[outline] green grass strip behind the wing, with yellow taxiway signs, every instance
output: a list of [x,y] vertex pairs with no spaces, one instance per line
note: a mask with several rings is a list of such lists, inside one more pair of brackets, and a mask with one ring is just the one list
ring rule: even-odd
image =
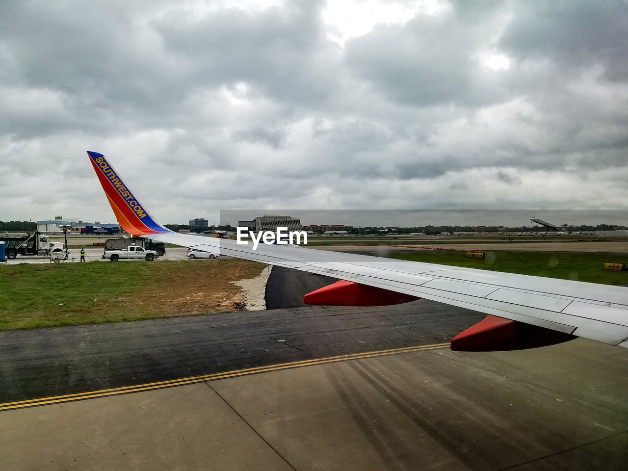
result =
[[628,283],[628,272],[607,271],[604,263],[628,263],[628,255],[570,252],[487,252],[485,259],[470,259],[465,252],[428,251],[392,254],[394,259],[521,273],[589,283]]

